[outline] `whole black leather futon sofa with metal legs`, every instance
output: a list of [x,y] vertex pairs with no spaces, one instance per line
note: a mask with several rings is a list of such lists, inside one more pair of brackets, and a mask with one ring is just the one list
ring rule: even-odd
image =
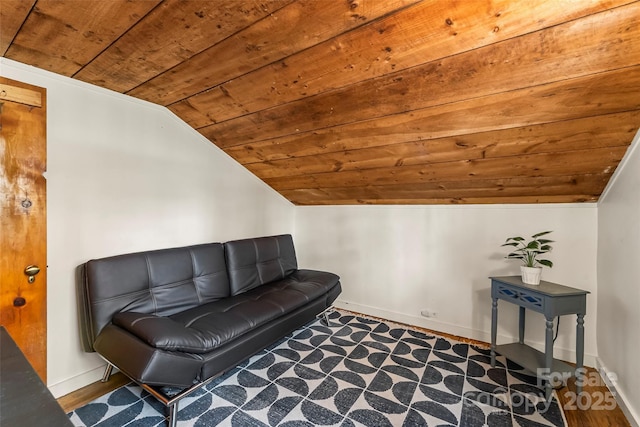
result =
[[95,259],[79,271],[84,350],[108,362],[104,381],[115,366],[162,401],[171,426],[181,398],[326,313],[341,292],[337,275],[298,269],[290,235]]

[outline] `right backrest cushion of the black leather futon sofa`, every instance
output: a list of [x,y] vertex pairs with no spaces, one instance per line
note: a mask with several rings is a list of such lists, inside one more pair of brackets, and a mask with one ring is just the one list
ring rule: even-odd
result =
[[234,240],[224,247],[231,295],[283,279],[298,269],[289,234]]

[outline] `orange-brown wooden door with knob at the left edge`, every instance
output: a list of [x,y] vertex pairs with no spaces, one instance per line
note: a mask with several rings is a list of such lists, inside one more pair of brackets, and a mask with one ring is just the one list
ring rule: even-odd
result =
[[46,117],[45,89],[0,77],[0,324],[45,383]]

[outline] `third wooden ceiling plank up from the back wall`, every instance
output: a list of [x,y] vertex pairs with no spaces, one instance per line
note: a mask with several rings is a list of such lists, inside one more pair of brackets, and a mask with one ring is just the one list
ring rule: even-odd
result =
[[[628,146],[640,127],[640,111],[589,117],[458,137],[256,161],[259,149],[232,147],[227,154],[262,178],[305,175],[525,154]],[[295,144],[291,144],[294,146]],[[250,161],[247,161],[250,160]]]

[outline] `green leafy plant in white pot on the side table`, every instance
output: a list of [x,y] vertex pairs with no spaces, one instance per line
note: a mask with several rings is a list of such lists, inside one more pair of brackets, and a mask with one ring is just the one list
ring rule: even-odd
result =
[[538,259],[542,254],[551,252],[553,249],[549,243],[553,243],[553,240],[543,239],[542,236],[546,236],[551,231],[543,231],[531,236],[531,240],[526,242],[523,237],[509,237],[502,246],[512,246],[514,249],[505,258],[519,259],[524,265],[520,267],[522,273],[522,281],[528,285],[539,285],[540,275],[542,274],[542,267],[553,267],[553,262],[548,259]]

